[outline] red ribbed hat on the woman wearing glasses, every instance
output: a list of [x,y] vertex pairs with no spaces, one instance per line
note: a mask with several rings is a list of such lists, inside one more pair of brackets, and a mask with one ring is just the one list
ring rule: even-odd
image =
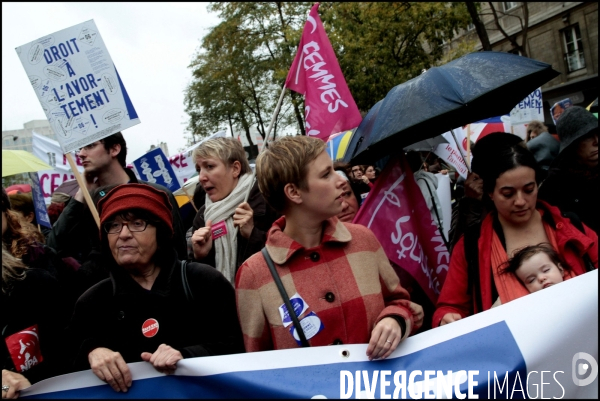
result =
[[[100,225],[114,215],[132,209],[152,213],[169,227],[173,235],[173,208],[169,197],[164,191],[146,184],[122,184],[110,190],[98,202]],[[103,231],[100,230],[101,236]]]

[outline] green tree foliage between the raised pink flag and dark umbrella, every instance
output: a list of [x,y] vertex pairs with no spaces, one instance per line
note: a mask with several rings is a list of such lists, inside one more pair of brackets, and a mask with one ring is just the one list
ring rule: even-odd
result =
[[368,111],[391,88],[443,56],[444,40],[466,27],[463,3],[323,3],[321,19],[358,108]]

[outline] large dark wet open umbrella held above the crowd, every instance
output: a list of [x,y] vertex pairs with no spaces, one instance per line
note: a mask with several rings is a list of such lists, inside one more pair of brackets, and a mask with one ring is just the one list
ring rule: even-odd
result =
[[558,75],[550,64],[501,52],[471,53],[433,67],[373,106],[344,161],[366,164],[473,121],[508,114]]

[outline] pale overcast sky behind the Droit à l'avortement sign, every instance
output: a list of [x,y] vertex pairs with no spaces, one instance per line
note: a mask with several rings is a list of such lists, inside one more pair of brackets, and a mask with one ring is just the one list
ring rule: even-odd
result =
[[[164,141],[185,147],[183,91],[188,68],[208,29],[207,3],[2,3],[2,130],[46,119],[15,48],[93,19],[141,124],[123,132],[127,162]],[[216,131],[216,127],[215,127]]]

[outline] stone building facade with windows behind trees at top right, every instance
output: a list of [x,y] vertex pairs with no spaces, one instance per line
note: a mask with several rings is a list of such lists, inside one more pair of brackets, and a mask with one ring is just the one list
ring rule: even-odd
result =
[[[480,18],[486,27],[492,50],[519,53],[497,28],[487,2],[482,2]],[[503,30],[523,41],[524,3],[493,2]],[[545,122],[552,123],[550,107],[570,98],[573,104],[587,107],[598,97],[598,3],[597,2],[528,2],[529,23],[524,44],[529,58],[552,65],[561,74],[542,86]],[[481,42],[473,25],[460,32],[446,50],[473,41],[475,50]]]

